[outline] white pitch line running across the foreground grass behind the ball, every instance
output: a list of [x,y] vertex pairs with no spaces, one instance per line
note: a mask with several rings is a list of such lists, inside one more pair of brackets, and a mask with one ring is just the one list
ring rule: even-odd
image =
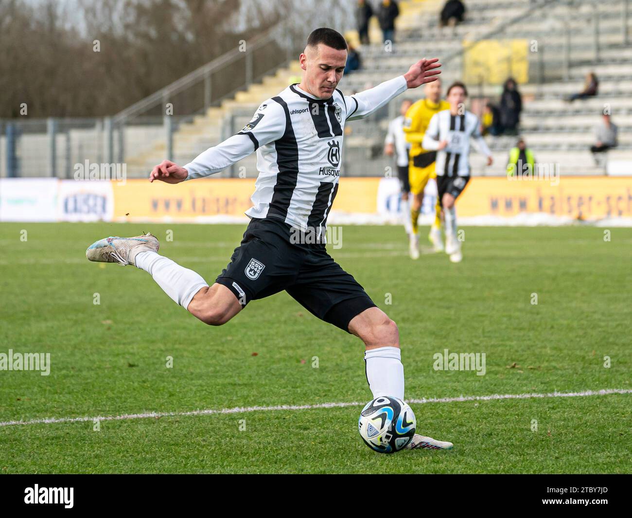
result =
[[[546,397],[586,397],[604,396],[607,394],[630,394],[632,389],[626,388],[605,388],[602,390],[585,390],[583,392],[551,392],[546,394],[492,394],[489,396],[460,396],[444,398],[421,398],[407,399],[408,403],[457,403],[464,401],[491,401],[501,399],[531,399]],[[219,410],[191,410],[190,412],[147,412],[144,414],[123,414],[122,416],[97,416],[97,417],[49,417],[47,419],[31,419],[30,421],[3,421],[0,426],[11,426],[14,424],[52,424],[56,422],[86,422],[86,421],[119,421],[121,419],[147,419],[148,417],[179,417],[179,416],[209,416],[210,414],[243,414],[245,412],[269,412],[270,410],[312,410],[331,409],[343,407],[360,407],[366,403],[318,403],[314,405],[276,405],[272,407],[234,407],[231,409]]]

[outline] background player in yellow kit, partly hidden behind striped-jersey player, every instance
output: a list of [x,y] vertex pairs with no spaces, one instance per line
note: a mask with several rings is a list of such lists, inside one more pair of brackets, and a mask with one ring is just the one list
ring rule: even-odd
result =
[[[410,163],[408,176],[410,179],[410,192],[413,199],[410,204],[410,217],[413,232],[410,235],[410,257],[419,258],[419,213],[422,210],[423,190],[430,178],[437,178],[435,174],[436,151],[427,151],[422,147],[423,135],[428,128],[428,123],[435,113],[449,109],[447,101],[441,100],[441,80],[427,83],[424,89],[425,99],[415,102],[406,112],[404,117],[404,133],[406,140],[410,142]],[[435,206],[435,221],[430,228],[428,236],[433,248],[437,252],[443,250],[441,238],[441,206],[437,200]]]

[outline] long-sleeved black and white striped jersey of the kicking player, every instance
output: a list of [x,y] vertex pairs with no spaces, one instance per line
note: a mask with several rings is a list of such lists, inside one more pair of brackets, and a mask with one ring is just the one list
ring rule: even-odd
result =
[[258,177],[251,218],[277,218],[289,225],[324,229],[336,197],[344,124],[362,119],[406,90],[396,77],[353,96],[336,89],[317,99],[287,87],[264,101],[243,129],[202,152],[184,167],[187,180],[219,173],[257,151]]

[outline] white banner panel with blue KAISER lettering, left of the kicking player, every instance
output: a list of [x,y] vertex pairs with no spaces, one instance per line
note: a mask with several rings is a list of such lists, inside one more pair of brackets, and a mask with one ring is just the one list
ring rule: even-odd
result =
[[59,221],[112,221],[112,182],[61,180],[58,194]]

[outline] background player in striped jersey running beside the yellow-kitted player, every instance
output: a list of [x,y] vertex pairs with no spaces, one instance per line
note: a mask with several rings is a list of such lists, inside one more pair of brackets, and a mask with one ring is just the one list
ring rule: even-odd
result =
[[453,83],[447,89],[450,109],[432,116],[422,144],[424,149],[437,150],[437,191],[444,213],[446,254],[452,262],[463,259],[461,244],[456,237],[454,202],[470,181],[470,138],[475,139],[478,151],[487,156],[487,165],[492,165],[492,152],[480,134],[478,117],[464,108],[467,96],[463,83]]

